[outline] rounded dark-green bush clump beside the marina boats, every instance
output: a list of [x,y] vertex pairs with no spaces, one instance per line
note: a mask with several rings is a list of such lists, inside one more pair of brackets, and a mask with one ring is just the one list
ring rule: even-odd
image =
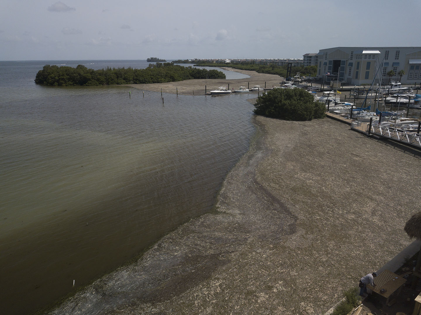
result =
[[303,89],[272,89],[257,98],[254,105],[257,115],[285,120],[312,120],[325,117],[326,106],[314,102],[314,97]]

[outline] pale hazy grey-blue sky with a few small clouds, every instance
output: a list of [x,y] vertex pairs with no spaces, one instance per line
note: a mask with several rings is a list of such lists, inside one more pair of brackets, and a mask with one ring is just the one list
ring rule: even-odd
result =
[[303,58],[419,47],[419,0],[0,0],[0,60]]

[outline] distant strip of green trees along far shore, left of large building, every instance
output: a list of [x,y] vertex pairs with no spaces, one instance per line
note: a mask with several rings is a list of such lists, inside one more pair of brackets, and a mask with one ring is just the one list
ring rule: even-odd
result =
[[[174,64],[185,64],[185,63],[192,63],[192,61],[186,60],[177,60],[173,61]],[[208,61],[195,61],[195,66],[206,66],[206,67],[229,67],[234,69],[240,70],[250,70],[256,71],[258,73],[267,73],[267,74],[277,74],[281,77],[287,76],[287,66],[276,66],[274,64],[263,65],[263,64],[255,64],[254,61],[242,62],[242,63],[209,63]],[[295,75],[297,72],[301,73],[301,76],[310,76],[315,77],[317,74],[317,66],[293,66],[291,68],[291,75]]]

